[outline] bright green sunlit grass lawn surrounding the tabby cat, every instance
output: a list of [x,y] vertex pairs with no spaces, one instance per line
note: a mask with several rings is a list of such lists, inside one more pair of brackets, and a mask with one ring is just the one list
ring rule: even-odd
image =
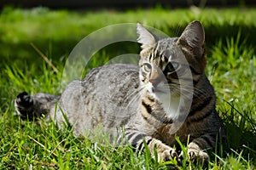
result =
[[[111,147],[102,139],[74,138],[70,129],[51,122],[22,122],[14,116],[15,96],[61,93],[65,61],[77,42],[103,26],[137,21],[177,36],[191,20],[201,20],[207,40],[207,76],[218,96],[217,109],[227,130],[227,144],[212,153],[211,169],[256,167],[256,10],[137,9],[135,11],[67,12],[47,8],[3,8],[0,14],[0,168],[6,169],[165,169],[201,168],[175,161],[157,163],[128,146]],[[64,29],[63,29],[64,28]],[[58,72],[32,48],[33,42]],[[138,44],[113,44],[96,54],[102,63],[110,56],[137,54]],[[116,50],[119,48],[120,50]],[[91,66],[102,63],[93,60]]]

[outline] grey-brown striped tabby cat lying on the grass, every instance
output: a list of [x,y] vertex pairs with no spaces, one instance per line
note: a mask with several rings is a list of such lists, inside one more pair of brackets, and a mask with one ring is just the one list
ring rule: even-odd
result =
[[84,80],[70,82],[61,96],[20,93],[16,112],[28,120],[44,115],[58,125],[67,118],[77,136],[102,125],[104,132],[117,137],[116,143],[129,143],[136,150],[147,144],[153,157],[156,148],[158,161],[183,157],[178,136],[183,144],[189,139],[191,161],[207,161],[207,149],[224,140],[225,132],[204,71],[201,22],[189,23],[180,37],[156,37],[139,23],[137,34],[142,44],[138,66],[97,67]]

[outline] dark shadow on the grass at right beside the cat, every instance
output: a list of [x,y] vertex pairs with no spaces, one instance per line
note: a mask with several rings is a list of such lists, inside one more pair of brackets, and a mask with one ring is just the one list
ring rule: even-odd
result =
[[256,165],[256,122],[253,120],[253,114],[238,111],[235,105],[226,103],[230,107],[218,111],[223,117],[226,129],[224,151],[227,155],[241,154],[243,158],[253,160]]

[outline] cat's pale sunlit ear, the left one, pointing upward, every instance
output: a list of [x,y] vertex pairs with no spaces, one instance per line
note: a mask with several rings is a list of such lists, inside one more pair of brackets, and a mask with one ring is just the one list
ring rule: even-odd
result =
[[137,23],[137,42],[142,44],[142,48],[152,48],[157,42],[157,37],[150,31],[144,28],[140,23]]

